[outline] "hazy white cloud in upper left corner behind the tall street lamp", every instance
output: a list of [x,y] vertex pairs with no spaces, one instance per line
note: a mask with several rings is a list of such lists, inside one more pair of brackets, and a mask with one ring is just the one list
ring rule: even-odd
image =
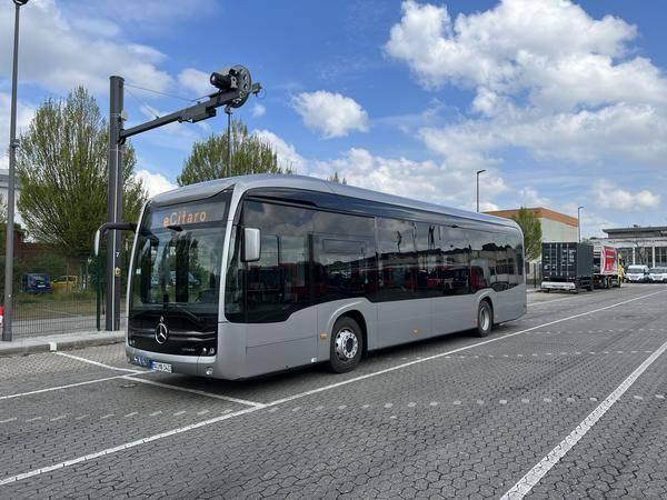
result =
[[[93,26],[103,29],[93,30]],[[91,32],[94,31],[94,32]],[[0,17],[0,46],[12,47],[13,16]],[[155,90],[166,90],[172,78],[158,69],[158,50],[118,37],[113,23],[99,18],[63,16],[54,0],[33,0],[21,9],[20,78],[64,92],[84,86],[107,93],[109,76]],[[9,78],[11,50],[0,51],[0,76]]]

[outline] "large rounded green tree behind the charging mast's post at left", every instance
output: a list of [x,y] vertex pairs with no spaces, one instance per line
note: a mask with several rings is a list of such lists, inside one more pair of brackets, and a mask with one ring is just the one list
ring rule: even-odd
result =
[[[89,256],[107,219],[108,137],[94,98],[79,87],[64,100],[46,100],[20,138],[19,212],[31,237],[66,256]],[[122,159],[123,219],[136,221],[147,193],[133,176],[131,144]]]

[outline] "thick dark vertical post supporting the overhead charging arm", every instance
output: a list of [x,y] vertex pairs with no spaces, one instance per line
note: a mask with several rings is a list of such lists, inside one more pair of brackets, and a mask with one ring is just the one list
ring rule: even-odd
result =
[[[122,128],[122,94],[121,77],[110,78],[109,100],[109,201],[107,221],[119,222],[122,217],[122,144],[120,130]],[[113,231],[107,238],[107,308],[104,329],[120,330],[120,231]]]

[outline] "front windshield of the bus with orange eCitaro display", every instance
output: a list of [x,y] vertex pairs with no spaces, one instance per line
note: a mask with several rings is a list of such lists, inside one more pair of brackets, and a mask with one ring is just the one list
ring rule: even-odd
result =
[[218,313],[228,198],[148,207],[139,231],[130,316],[179,310]]

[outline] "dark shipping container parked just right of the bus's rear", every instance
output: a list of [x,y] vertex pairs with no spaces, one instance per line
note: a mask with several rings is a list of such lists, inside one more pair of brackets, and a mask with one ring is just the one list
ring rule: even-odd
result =
[[542,243],[542,291],[593,291],[593,246],[576,242]]

